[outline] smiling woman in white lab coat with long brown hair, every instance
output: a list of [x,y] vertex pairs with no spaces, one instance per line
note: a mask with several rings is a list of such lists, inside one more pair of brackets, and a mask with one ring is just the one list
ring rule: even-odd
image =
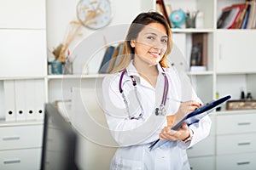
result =
[[[167,65],[171,51],[172,33],[165,18],[155,12],[138,14],[119,65],[102,82],[103,109],[119,144],[110,169],[189,170],[186,149],[209,134],[208,116],[171,130],[201,105],[189,79]],[[168,141],[150,150],[157,139]]]

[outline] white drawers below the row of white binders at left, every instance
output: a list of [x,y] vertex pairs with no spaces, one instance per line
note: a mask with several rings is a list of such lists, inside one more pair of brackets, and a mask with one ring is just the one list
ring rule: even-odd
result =
[[0,169],[40,169],[42,122],[0,124]]

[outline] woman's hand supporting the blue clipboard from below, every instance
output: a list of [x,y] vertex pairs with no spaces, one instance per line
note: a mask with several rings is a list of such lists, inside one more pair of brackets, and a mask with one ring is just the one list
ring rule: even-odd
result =
[[178,130],[172,130],[171,127],[164,127],[159,136],[160,139],[175,141],[187,139],[189,135],[189,127],[184,122],[182,127],[180,127]]

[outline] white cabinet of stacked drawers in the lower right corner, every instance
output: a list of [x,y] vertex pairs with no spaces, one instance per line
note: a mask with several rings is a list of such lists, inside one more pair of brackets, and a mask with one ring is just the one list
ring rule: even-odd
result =
[[217,169],[255,169],[255,113],[232,111],[216,116]]

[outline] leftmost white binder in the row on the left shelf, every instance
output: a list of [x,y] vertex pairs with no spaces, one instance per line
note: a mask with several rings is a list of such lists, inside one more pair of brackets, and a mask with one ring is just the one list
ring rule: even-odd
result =
[[16,121],[16,111],[15,111],[15,81],[14,80],[4,80],[4,111],[5,111],[5,121],[15,122]]

